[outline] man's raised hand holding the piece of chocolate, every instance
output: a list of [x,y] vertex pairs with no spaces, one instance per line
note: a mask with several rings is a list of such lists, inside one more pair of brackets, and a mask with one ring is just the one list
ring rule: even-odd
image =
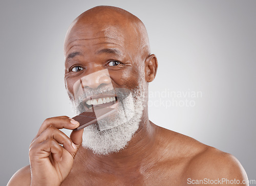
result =
[[48,118],[42,123],[29,150],[31,185],[60,185],[69,175],[83,130],[72,131],[69,138],[58,129],[78,126],[77,121],[66,116]]

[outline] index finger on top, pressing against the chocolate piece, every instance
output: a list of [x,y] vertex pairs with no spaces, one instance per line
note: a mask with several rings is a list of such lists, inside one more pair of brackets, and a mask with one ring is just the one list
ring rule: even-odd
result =
[[79,126],[79,122],[67,116],[48,118],[42,123],[36,137],[38,137],[42,131],[46,130],[49,126],[53,126],[57,129],[66,128],[73,130]]

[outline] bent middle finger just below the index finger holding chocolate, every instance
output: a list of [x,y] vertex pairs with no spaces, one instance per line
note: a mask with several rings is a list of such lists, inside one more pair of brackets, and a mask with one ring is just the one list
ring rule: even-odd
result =
[[72,140],[62,131],[56,129],[53,126],[48,127],[45,131],[43,131],[33,143],[42,143],[47,139],[53,138],[56,142],[63,145],[63,147],[69,152],[74,153],[77,150],[77,147],[72,142]]

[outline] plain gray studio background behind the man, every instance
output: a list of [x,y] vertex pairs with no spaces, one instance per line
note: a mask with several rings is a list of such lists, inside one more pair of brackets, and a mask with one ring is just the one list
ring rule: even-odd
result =
[[71,21],[97,5],[130,11],[147,28],[159,62],[150,119],[233,154],[256,179],[256,1],[31,0],[0,3],[1,185],[29,164],[46,118],[74,116],[63,39]]

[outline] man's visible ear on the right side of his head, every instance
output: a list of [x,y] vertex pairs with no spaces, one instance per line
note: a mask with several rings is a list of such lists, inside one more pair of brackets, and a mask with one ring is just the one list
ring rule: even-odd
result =
[[145,80],[147,82],[152,82],[157,74],[157,57],[155,54],[151,54],[145,60]]

